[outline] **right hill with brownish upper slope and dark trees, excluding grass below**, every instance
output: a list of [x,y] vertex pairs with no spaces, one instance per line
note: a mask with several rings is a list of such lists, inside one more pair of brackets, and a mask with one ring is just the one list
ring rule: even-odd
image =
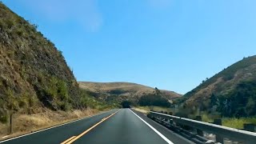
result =
[[227,116],[256,114],[256,56],[243,58],[185,94],[186,106],[217,109]]

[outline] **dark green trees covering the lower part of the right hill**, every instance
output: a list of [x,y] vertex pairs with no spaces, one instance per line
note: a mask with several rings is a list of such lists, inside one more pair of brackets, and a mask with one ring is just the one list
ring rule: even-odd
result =
[[218,111],[225,117],[248,117],[256,114],[256,80],[240,82],[228,94],[210,98],[212,111]]

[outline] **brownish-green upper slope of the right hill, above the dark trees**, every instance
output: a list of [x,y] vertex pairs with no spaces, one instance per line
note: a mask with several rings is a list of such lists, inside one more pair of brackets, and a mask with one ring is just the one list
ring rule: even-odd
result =
[[211,94],[225,95],[238,83],[256,79],[256,56],[243,58],[184,95],[189,105],[209,101]]

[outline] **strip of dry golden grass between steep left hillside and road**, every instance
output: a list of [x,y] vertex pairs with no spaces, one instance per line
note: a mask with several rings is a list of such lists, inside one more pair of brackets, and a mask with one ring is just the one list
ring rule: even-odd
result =
[[43,110],[38,114],[14,114],[13,115],[13,134],[10,132],[9,122],[0,122],[0,140],[12,138],[22,134],[28,134],[36,130],[59,124],[70,122],[78,118],[86,118],[100,113],[99,110],[87,108],[86,110],[72,110],[70,112]]

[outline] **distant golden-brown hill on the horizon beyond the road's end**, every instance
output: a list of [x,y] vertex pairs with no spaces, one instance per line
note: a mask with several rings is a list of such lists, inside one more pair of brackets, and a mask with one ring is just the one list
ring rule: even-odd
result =
[[[143,94],[151,94],[154,88],[130,82],[78,82],[79,86],[91,92],[95,97],[107,102],[122,102],[130,100],[138,102]],[[168,100],[179,98],[182,95],[169,90],[161,90],[162,96]]]

